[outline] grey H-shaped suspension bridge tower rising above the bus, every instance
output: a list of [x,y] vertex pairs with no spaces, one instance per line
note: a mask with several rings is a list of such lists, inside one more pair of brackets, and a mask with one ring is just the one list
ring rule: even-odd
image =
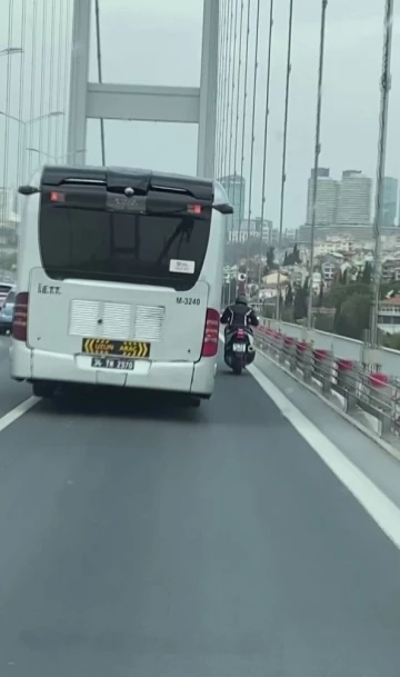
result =
[[[87,120],[198,123],[198,176],[212,178],[217,128],[218,0],[203,0],[200,87],[152,87],[89,81],[92,0],[73,1],[68,153],[86,163]],[[78,152],[77,152],[78,151]]]

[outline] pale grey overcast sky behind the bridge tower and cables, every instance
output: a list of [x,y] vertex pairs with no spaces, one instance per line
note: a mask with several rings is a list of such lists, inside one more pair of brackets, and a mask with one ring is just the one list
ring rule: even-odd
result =
[[[19,0],[21,2],[21,0]],[[18,3],[18,0],[14,0]],[[269,2],[261,2],[259,101],[252,213],[260,212],[263,98]],[[320,0],[294,0],[292,81],[288,140],[284,227],[304,220],[307,179],[313,161],[316,82]],[[256,8],[256,0],[253,0]],[[271,116],[268,149],[267,213],[278,222],[284,101],[288,0],[276,2]],[[362,169],[374,176],[378,139],[379,76],[383,0],[330,0],[328,4],[321,163],[334,176]],[[4,14],[4,9],[0,14]],[[7,10],[6,10],[7,13]],[[201,57],[201,0],[102,0],[103,79],[132,83],[197,86]],[[256,11],[253,12],[253,18]],[[6,19],[6,17],[4,17]],[[254,23],[252,22],[252,31]],[[16,31],[18,27],[16,26]],[[7,44],[7,20],[0,21],[0,47]],[[93,50],[92,50],[93,51]],[[253,48],[250,50],[253,62]],[[16,58],[18,59],[18,57]],[[392,91],[387,173],[400,176],[400,9],[394,22]],[[0,63],[0,101],[4,100],[4,63]],[[92,78],[96,79],[94,59]],[[250,69],[250,93],[252,68]],[[16,97],[16,92],[14,92]],[[250,122],[249,98],[248,122]],[[0,135],[3,128],[0,127]],[[197,128],[162,123],[106,123],[110,163],[196,170]],[[249,170],[249,140],[244,175]],[[2,143],[2,139],[1,139]],[[99,126],[89,122],[89,161],[98,162]],[[240,168],[240,162],[238,162]],[[1,172],[1,168],[0,168]]]

